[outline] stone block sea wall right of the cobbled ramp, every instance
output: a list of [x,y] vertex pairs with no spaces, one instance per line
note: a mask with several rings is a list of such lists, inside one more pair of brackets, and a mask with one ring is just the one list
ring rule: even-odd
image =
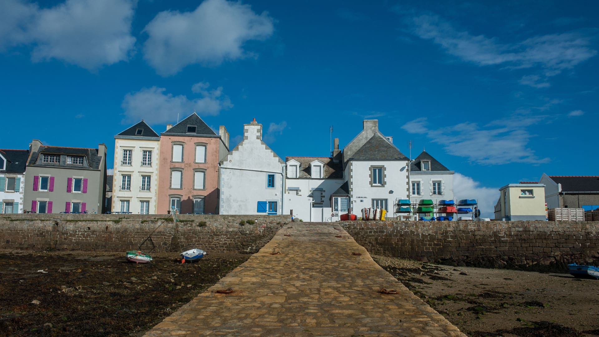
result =
[[345,221],[375,254],[443,264],[538,271],[599,265],[599,222]]

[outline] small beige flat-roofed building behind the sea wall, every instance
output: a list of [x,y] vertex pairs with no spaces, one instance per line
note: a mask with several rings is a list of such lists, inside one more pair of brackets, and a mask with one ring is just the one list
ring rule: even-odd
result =
[[499,189],[495,219],[546,220],[545,185],[542,183],[510,183]]

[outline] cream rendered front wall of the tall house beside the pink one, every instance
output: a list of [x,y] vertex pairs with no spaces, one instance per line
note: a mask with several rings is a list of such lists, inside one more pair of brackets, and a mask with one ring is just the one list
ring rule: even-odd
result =
[[[123,149],[132,150],[131,166],[122,165]],[[152,166],[141,166],[143,150],[152,151]],[[159,140],[114,140],[113,212],[120,212],[121,200],[129,200],[129,212],[139,214],[140,201],[150,201],[149,213],[156,214],[159,150]],[[120,190],[123,174],[131,174],[131,191]],[[150,176],[150,191],[140,190],[141,176]]]

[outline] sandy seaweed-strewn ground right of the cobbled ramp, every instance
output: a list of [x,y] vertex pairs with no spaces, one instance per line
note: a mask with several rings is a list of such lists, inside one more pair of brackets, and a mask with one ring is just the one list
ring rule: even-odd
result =
[[598,280],[373,258],[468,336],[599,336]]

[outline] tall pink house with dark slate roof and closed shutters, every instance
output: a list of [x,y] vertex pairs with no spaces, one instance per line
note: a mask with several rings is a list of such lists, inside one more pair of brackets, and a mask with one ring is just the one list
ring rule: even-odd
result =
[[160,137],[158,213],[214,213],[219,205],[219,161],[229,152],[229,134],[220,135],[192,113]]

